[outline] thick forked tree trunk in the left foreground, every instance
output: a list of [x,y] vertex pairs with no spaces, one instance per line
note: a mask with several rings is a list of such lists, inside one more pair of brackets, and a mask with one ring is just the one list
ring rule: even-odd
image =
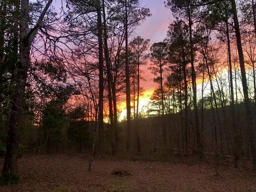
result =
[[12,112],[10,116],[8,140],[6,146],[6,156],[3,165],[2,178],[8,182],[13,175],[18,173],[17,151],[18,151],[18,127],[26,87],[27,73],[29,69],[29,54],[32,41],[38,29],[41,27],[44,16],[51,5],[52,0],[48,0],[44,10],[37,20],[35,26],[29,30],[29,1],[20,0],[20,45],[19,61],[17,62],[17,80],[15,85],[14,100],[12,102]]

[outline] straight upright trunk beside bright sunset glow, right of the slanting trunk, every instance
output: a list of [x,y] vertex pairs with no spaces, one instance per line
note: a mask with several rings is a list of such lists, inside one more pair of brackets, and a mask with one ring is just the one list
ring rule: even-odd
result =
[[131,92],[130,92],[130,67],[128,61],[128,3],[125,0],[125,93],[126,93],[126,111],[127,111],[127,138],[126,150],[130,150],[131,140]]

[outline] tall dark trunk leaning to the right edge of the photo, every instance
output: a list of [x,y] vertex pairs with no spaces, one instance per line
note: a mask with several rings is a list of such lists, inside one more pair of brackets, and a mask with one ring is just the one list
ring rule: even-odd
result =
[[[252,123],[252,117],[251,117],[251,111],[250,111],[250,98],[248,94],[248,87],[247,87],[247,78],[246,78],[246,71],[244,66],[244,55],[243,55],[243,49],[242,49],[242,43],[241,43],[241,34],[239,29],[239,21],[237,17],[236,12],[236,1],[231,0],[232,5],[232,12],[234,17],[234,24],[235,24],[235,32],[236,32],[236,43],[237,43],[237,49],[239,54],[239,63],[240,63],[240,70],[241,70],[241,77],[242,77],[242,86],[243,86],[243,93],[244,93],[244,105],[245,105],[245,112],[247,116],[247,126],[250,132],[250,145],[251,145],[251,151],[253,156],[253,169],[256,169],[256,149],[255,149],[255,133]],[[236,148],[237,153],[239,153],[239,148]],[[237,154],[235,154],[236,156]]]

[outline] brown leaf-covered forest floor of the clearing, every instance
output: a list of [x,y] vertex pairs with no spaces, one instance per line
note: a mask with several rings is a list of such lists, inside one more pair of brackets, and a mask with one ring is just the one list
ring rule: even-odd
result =
[[[96,158],[88,169],[81,154],[26,155],[19,159],[21,182],[0,186],[0,192],[256,192],[256,172],[210,164]],[[3,161],[0,162],[0,171]],[[113,175],[116,169],[131,175]]]

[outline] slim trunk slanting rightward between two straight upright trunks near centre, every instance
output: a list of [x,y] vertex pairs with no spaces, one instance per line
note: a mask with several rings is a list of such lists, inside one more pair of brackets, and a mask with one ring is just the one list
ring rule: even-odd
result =
[[108,79],[108,104],[109,104],[109,118],[110,118],[110,132],[111,132],[111,148],[112,148],[112,155],[114,155],[116,154],[116,141],[115,141],[115,129],[114,129],[114,122],[113,122],[113,105],[112,105],[112,92],[111,92],[111,87],[112,87],[111,83],[113,78],[111,74],[111,66],[109,61],[108,34],[107,34],[104,0],[102,0],[102,10],[103,10],[103,20],[104,20],[105,61],[107,65],[107,79]]

